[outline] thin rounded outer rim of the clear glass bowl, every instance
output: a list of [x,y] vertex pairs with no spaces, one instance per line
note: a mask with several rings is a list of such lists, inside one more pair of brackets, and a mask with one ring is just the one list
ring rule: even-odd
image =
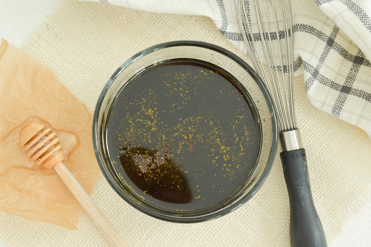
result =
[[[228,205],[224,207],[221,210],[218,210],[217,212],[212,212],[212,213],[207,213],[202,216],[194,216],[194,217],[179,217],[179,213],[177,215],[174,214],[174,216],[164,216],[163,214],[146,210],[143,207],[138,206],[135,202],[130,200],[128,197],[122,194],[121,190],[119,187],[112,181],[112,177],[110,176],[109,172],[105,169],[104,166],[104,160],[102,160],[101,154],[99,152],[98,148],[98,126],[99,123],[97,121],[99,112],[102,110],[102,102],[106,96],[106,93],[108,89],[111,87],[112,83],[115,81],[115,79],[121,74],[121,72],[128,67],[130,64],[138,60],[139,58],[143,57],[146,54],[152,53],[157,50],[161,50],[164,48],[168,47],[177,47],[177,46],[195,46],[195,47],[201,47],[201,48],[206,48],[212,51],[216,51],[217,53],[220,53],[222,55],[225,55],[238,63],[241,67],[244,68],[254,79],[256,82],[257,86],[259,87],[260,91],[262,91],[262,94],[266,100],[266,104],[268,107],[268,110],[270,112],[270,119],[271,119],[271,124],[272,124],[272,145],[270,146],[270,152],[269,152],[269,157],[267,159],[266,166],[261,174],[261,176],[258,178],[258,181],[256,184],[250,189],[249,193],[243,196],[242,199],[238,201],[238,203],[232,204],[232,206]],[[243,85],[242,85],[243,86]],[[145,213],[149,216],[155,217],[157,219],[161,220],[166,220],[166,221],[171,221],[171,222],[178,222],[178,223],[196,223],[196,222],[201,222],[201,221],[207,221],[211,219],[215,219],[218,217],[221,217],[227,213],[232,212],[233,210],[239,208],[242,206],[244,203],[246,203],[248,200],[253,197],[256,192],[262,187],[263,183],[265,182],[267,176],[269,175],[270,170],[272,169],[276,152],[278,149],[278,123],[277,123],[277,118],[276,118],[276,110],[273,106],[273,100],[271,98],[271,95],[265,85],[263,83],[262,79],[257,75],[255,70],[247,64],[242,58],[237,56],[236,54],[232,53],[231,51],[227,50],[226,48],[220,47],[215,44],[211,43],[206,43],[203,41],[194,41],[194,40],[177,40],[177,41],[169,41],[169,42],[164,42],[156,45],[152,45],[151,47],[145,48],[142,51],[139,51],[135,55],[132,55],[128,60],[126,60],[108,79],[106,84],[104,85],[98,101],[96,103],[95,109],[94,109],[94,114],[93,114],[93,123],[92,123],[92,141],[93,141],[93,149],[95,153],[96,160],[98,162],[99,168],[101,169],[105,179],[109,183],[109,185],[115,190],[115,192],[122,197],[122,199],[125,200],[125,202],[129,203],[131,206],[134,208],[138,209],[140,212]],[[167,210],[163,210],[163,212],[167,212]],[[185,213],[186,214],[186,213]],[[184,215],[185,215],[184,214]]]

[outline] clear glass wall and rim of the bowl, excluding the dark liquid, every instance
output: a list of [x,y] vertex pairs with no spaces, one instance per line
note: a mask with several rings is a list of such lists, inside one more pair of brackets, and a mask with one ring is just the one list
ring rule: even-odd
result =
[[[116,95],[135,75],[145,68],[174,59],[192,59],[209,62],[229,72],[249,94],[252,107],[258,112],[260,122],[260,153],[255,169],[240,189],[221,203],[205,209],[169,210],[154,206],[143,200],[122,181],[109,158],[106,144],[108,115]],[[158,219],[173,222],[199,222],[223,216],[249,200],[262,186],[275,159],[278,130],[276,115],[270,95],[253,69],[237,55],[213,44],[199,41],[172,41],[149,47],[129,60],[114,72],[99,96],[93,116],[93,146],[96,159],[106,180],[126,202],[143,213]]]

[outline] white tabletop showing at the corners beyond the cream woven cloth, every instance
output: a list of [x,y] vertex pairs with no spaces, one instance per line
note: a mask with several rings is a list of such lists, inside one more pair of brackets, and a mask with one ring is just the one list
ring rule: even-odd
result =
[[[62,1],[0,0],[0,37],[21,47],[24,40],[42,25],[45,18],[53,13]],[[334,242],[329,244],[329,247],[369,247],[371,246],[370,229],[371,204],[365,206],[357,217],[342,227],[341,233]],[[6,246],[0,243],[0,247]]]

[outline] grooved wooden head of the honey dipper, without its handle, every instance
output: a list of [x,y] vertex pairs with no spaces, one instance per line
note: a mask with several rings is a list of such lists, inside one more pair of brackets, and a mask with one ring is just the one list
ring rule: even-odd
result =
[[51,169],[65,159],[56,133],[42,124],[29,123],[19,132],[20,143],[26,156],[37,165]]

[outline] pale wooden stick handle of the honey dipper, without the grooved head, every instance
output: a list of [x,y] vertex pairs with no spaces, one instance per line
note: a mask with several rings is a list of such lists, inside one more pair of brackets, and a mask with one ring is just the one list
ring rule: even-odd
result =
[[59,162],[54,169],[111,244],[116,247],[128,247],[66,166]]

